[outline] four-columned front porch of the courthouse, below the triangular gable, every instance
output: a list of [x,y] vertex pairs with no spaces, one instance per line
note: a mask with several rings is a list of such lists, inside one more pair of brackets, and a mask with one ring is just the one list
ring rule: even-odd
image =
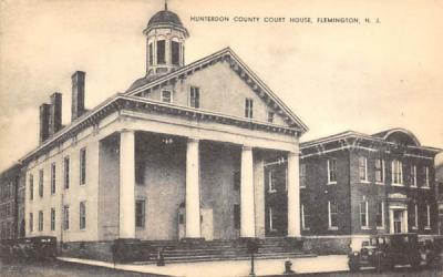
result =
[[[114,145],[120,152],[119,238],[179,238],[181,217],[177,214],[181,204],[185,207],[182,218],[185,238],[206,238],[204,223],[212,226],[213,237],[218,239],[262,237],[264,161],[269,153],[284,153],[287,157],[288,236],[300,236],[298,154],[296,143],[290,143],[296,137],[289,136],[288,142],[272,140],[265,143],[269,138],[264,138],[264,134],[253,140],[250,134],[206,132],[208,130],[187,130],[193,135],[183,136],[175,132],[166,134],[152,132],[152,129],[143,130],[142,126],[151,123],[127,119],[121,121],[125,127],[111,135],[120,141],[119,145]],[[161,129],[158,125],[154,130]],[[233,143],[234,140],[237,143]],[[254,141],[256,143],[251,143]],[[236,175],[239,176],[238,187]],[[136,226],[140,216],[136,214],[137,201],[145,202],[143,228]],[[158,202],[163,202],[159,205],[168,203],[174,208],[163,209],[156,206]],[[236,214],[236,206],[239,214]],[[203,209],[212,211],[213,218],[205,218]],[[161,218],[163,223],[158,222]],[[207,223],[208,219],[212,223]],[[238,228],[235,226],[237,219]]]

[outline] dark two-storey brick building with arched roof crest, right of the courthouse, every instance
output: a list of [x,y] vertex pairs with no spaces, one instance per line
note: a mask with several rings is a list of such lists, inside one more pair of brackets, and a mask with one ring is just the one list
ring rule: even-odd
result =
[[[357,248],[371,234],[437,234],[434,157],[409,131],[344,132],[302,143],[301,228]],[[346,245],[346,244],[342,244]]]

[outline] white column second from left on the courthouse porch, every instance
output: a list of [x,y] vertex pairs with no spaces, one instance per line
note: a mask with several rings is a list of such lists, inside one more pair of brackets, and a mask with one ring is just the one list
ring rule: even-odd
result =
[[188,138],[186,150],[186,234],[200,238],[200,186],[198,140]]

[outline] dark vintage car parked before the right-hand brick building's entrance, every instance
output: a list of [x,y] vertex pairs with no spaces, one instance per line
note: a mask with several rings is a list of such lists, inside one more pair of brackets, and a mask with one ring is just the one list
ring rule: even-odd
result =
[[360,267],[382,270],[395,265],[419,268],[422,260],[432,260],[432,255],[431,250],[424,250],[419,244],[416,234],[377,235],[363,242],[360,252],[349,254],[348,265],[351,271],[359,270]]

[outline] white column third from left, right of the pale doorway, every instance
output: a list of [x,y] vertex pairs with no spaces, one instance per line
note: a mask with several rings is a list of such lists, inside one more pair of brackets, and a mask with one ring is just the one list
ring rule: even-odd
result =
[[256,236],[256,219],[254,208],[254,163],[253,148],[241,150],[241,185],[240,185],[240,236]]

